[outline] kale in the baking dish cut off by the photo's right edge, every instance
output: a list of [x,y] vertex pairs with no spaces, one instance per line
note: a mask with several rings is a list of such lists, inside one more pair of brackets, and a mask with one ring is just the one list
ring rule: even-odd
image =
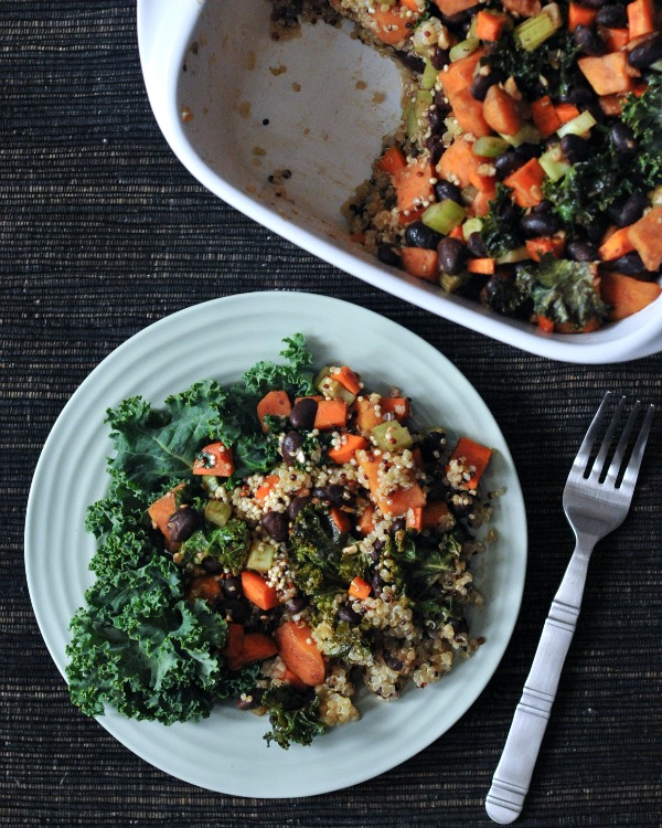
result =
[[652,75],[641,97],[629,95],[623,104],[623,124],[639,144],[634,180],[648,188],[662,181],[662,76]]

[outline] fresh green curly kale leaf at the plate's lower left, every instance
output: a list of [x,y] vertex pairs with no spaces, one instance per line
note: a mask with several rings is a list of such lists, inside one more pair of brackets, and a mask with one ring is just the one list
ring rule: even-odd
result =
[[67,679],[87,715],[110,704],[164,724],[206,716],[224,696],[227,625],[202,601],[183,598],[177,567],[159,555],[98,578],[74,616]]

